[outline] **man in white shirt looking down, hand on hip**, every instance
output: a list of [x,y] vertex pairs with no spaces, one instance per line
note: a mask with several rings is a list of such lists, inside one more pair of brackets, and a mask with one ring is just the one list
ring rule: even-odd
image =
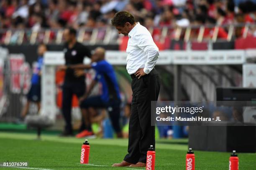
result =
[[115,167],[145,167],[150,145],[155,147],[155,127],[151,126],[151,101],[156,101],[160,79],[154,68],[159,49],[150,32],[136,23],[133,15],[120,11],[112,19],[119,34],[129,37],[126,69],[131,75],[133,99],[129,121],[128,154]]

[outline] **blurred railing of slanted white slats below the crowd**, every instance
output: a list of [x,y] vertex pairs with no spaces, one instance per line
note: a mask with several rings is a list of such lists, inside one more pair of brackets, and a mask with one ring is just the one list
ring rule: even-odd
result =
[[[211,40],[216,42],[220,40],[218,33],[220,28],[223,28],[227,32],[227,38],[224,40],[231,41],[236,38],[235,32],[237,29],[243,28],[243,32],[240,37],[247,37],[249,32],[256,31],[256,24],[235,24],[235,25],[191,25],[186,28],[182,27],[152,27],[148,30],[153,34],[154,30],[159,30],[159,41],[164,43],[166,37],[174,40],[184,40],[202,42],[203,40]],[[206,29],[213,31],[210,37],[205,38],[204,33]],[[102,28],[80,28],[77,33],[77,40],[90,45],[95,44],[119,44],[119,37],[115,28],[107,26]],[[223,40],[223,38],[221,39]],[[15,29],[1,29],[0,30],[0,42],[9,44],[23,43],[36,44],[61,44],[64,42],[63,29],[42,29],[40,31],[33,31],[31,29],[15,30]]]

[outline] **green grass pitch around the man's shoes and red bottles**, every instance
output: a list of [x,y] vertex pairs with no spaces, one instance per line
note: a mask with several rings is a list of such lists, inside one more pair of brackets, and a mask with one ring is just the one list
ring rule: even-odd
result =
[[[115,168],[113,163],[123,160],[128,140],[91,139],[90,164],[81,165],[83,139],[59,138],[35,134],[0,132],[0,163],[28,162],[27,168],[49,170],[141,170],[145,168]],[[185,140],[156,141],[156,170],[184,170],[187,151]],[[228,170],[230,153],[195,151],[196,170]],[[239,170],[256,170],[255,153],[238,153]],[[3,168],[0,169],[19,169]]]

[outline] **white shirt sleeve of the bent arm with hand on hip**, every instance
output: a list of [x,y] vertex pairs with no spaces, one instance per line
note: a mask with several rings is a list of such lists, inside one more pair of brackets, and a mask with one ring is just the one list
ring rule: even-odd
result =
[[151,35],[139,34],[136,35],[136,39],[138,40],[138,47],[147,54],[147,61],[143,71],[148,74],[156,65],[156,61],[159,58],[159,49]]

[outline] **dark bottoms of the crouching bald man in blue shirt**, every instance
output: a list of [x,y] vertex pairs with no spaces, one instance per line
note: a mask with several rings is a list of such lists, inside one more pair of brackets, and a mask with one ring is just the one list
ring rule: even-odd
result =
[[89,107],[107,109],[113,129],[116,133],[120,133],[120,103],[120,100],[103,101],[100,95],[97,95],[83,100],[80,103],[80,107],[85,109],[88,109]]

